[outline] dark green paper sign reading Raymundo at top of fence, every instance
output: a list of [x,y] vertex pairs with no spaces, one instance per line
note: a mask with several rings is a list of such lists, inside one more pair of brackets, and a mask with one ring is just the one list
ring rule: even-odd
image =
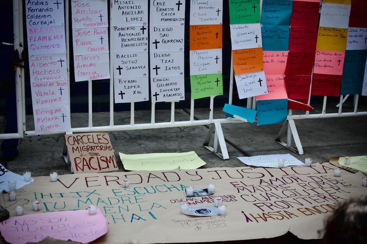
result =
[[229,23],[260,23],[260,1],[229,0]]

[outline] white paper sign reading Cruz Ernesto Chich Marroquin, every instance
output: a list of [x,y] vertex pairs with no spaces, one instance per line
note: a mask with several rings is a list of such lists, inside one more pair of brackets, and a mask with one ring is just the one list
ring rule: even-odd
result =
[[150,0],[150,25],[185,25],[185,0]]

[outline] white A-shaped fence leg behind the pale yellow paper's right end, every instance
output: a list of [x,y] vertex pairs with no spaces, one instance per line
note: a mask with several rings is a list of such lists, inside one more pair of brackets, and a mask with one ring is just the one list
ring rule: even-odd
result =
[[[214,145],[213,147],[211,147],[209,146],[209,142],[213,132],[214,132]],[[218,141],[222,153],[218,152]],[[203,146],[206,147],[209,151],[211,151],[215,155],[217,155],[219,158],[223,160],[229,159],[226,142],[223,136],[222,126],[219,121],[216,121],[214,122],[214,124],[210,125]]]

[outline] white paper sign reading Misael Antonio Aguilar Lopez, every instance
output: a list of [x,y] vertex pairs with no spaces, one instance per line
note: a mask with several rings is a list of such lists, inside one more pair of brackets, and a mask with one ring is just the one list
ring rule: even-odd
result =
[[112,4],[113,26],[148,25],[148,0],[116,0],[112,1]]

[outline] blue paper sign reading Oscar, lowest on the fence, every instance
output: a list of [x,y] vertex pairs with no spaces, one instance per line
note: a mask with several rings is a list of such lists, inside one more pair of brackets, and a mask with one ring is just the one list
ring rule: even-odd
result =
[[257,125],[269,125],[284,122],[288,115],[288,100],[258,100],[257,106]]

